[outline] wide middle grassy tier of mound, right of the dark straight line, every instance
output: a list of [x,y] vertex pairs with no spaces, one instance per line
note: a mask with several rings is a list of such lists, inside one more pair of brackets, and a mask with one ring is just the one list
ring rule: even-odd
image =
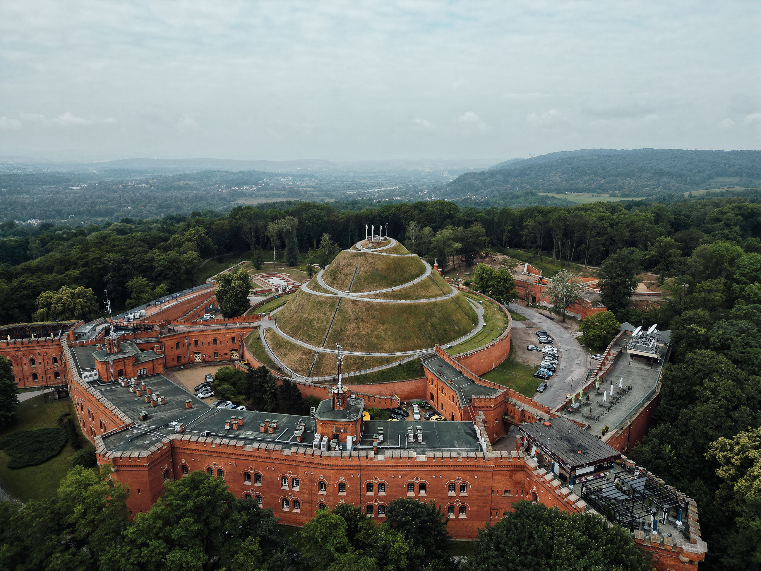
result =
[[462,294],[426,303],[373,303],[344,298],[326,346],[342,343],[347,351],[412,351],[444,344],[473,330],[478,317],[467,312]]

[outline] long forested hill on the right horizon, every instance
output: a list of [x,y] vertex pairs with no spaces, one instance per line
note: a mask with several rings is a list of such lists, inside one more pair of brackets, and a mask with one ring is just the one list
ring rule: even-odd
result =
[[512,159],[448,183],[450,199],[509,202],[514,193],[655,196],[721,187],[761,186],[761,151],[591,148]]

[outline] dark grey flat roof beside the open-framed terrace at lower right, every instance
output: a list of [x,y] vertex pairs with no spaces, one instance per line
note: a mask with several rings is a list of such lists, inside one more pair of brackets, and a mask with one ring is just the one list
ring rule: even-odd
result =
[[578,424],[560,416],[552,420],[518,426],[529,442],[549,452],[564,466],[575,467],[600,464],[610,458],[621,458],[621,453],[596,438]]

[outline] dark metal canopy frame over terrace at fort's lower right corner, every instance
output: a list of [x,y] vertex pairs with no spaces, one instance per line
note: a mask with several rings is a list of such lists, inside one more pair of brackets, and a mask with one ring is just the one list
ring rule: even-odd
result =
[[599,477],[581,483],[581,498],[611,521],[633,529],[659,510],[680,507],[686,513],[690,499],[644,468],[629,467],[613,476],[613,481]]

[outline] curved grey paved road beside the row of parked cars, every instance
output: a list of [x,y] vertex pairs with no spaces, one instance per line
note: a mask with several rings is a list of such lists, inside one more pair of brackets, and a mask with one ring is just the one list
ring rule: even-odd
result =
[[548,381],[547,390],[535,394],[533,399],[552,409],[559,407],[565,401],[565,395],[570,393],[572,388],[578,390],[581,386],[580,381],[586,381],[590,363],[587,352],[582,349],[570,331],[563,329],[555,321],[521,305],[511,303],[508,307],[510,311],[528,317],[552,336],[552,340],[560,353],[560,367]]

